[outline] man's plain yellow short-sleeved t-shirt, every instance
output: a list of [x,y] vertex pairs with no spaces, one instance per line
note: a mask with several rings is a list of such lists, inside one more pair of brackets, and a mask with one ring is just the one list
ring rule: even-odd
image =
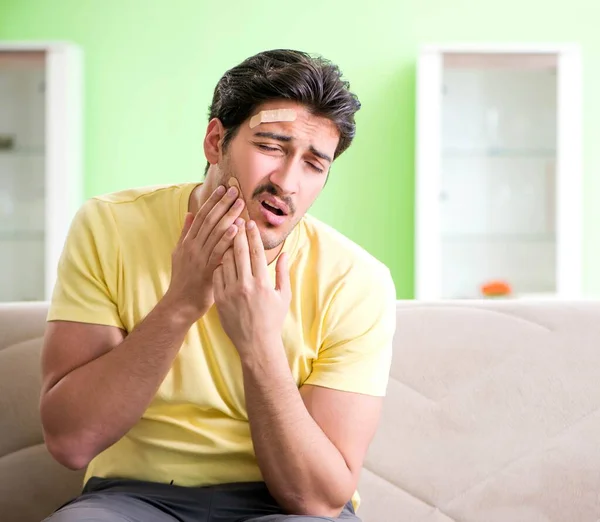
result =
[[[95,197],[76,214],[48,320],[127,332],[168,288],[190,194],[183,183]],[[395,330],[389,270],[305,216],[284,244],[292,302],[283,341],[298,387],[383,396]],[[269,265],[275,282],[275,262]],[[242,370],[213,307],[188,332],[143,417],[92,460],[90,476],[204,486],[263,480],[250,437]],[[354,495],[358,506],[359,496]]]

